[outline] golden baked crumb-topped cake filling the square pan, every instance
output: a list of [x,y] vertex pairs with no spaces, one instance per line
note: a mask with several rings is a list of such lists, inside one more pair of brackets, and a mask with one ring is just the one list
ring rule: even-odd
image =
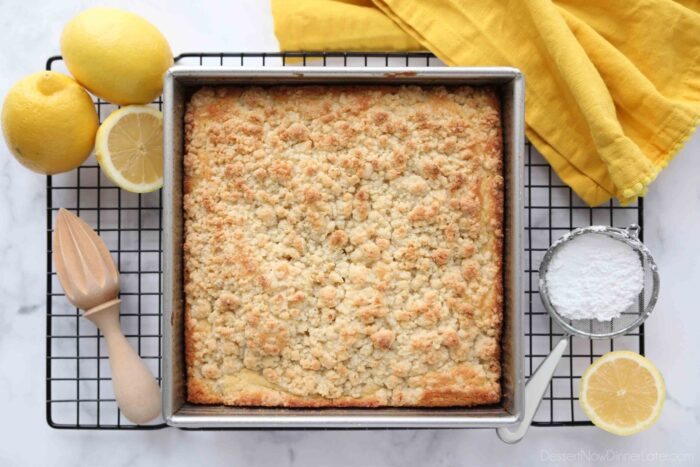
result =
[[489,88],[202,88],[185,155],[188,399],[500,399]]

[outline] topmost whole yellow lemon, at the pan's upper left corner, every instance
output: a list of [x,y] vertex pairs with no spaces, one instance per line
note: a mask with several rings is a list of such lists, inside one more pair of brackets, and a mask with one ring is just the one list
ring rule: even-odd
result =
[[173,64],[170,46],[155,26],[116,8],[91,8],[71,19],[61,34],[61,53],[80,84],[120,105],[158,97]]

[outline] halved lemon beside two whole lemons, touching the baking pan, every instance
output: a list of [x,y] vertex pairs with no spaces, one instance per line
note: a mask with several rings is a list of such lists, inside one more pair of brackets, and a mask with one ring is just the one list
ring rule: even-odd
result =
[[148,193],[163,186],[163,114],[129,105],[100,125],[95,154],[104,174],[121,188]]

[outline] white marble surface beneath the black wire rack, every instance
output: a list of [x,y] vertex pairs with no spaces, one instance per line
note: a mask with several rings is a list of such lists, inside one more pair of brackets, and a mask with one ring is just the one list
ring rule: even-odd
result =
[[[176,53],[273,51],[265,1],[0,0],[0,95],[58,54],[62,25],[92,4],[121,5],[154,22]],[[668,401],[659,423],[631,438],[591,427],[534,428],[516,446],[491,430],[359,432],[59,431],[45,421],[44,177],[0,147],[0,465],[700,465],[700,136],[646,200],[646,240],[662,272],[647,354]],[[616,457],[617,456],[617,457]]]

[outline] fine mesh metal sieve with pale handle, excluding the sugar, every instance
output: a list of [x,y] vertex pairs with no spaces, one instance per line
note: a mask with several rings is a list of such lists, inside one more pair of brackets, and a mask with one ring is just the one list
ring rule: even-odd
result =
[[[514,426],[499,428],[498,436],[507,443],[520,441],[532,422],[537,407],[569,342],[570,336],[586,337],[589,339],[610,339],[614,336],[627,334],[639,327],[656,305],[659,296],[659,273],[654,258],[644,244],[639,241],[639,226],[630,225],[627,229],[598,226],[584,227],[572,230],[554,242],[542,262],[539,270],[540,298],[554,322],[564,331],[562,339],[554,346],[549,356],[540,364],[535,373],[525,385],[525,410],[522,421]],[[618,318],[610,321],[595,319],[569,319],[560,315],[552,304],[547,289],[547,272],[552,258],[562,246],[583,235],[606,235],[632,248],[639,257],[644,273],[642,290],[635,302],[623,311]]]

